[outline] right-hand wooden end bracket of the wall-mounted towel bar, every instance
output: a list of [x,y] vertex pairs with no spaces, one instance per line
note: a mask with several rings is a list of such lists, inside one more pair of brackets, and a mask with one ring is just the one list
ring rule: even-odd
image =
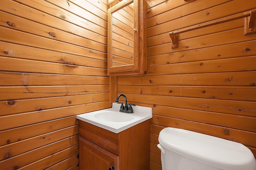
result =
[[250,16],[244,18],[244,35],[256,33],[256,9],[244,14],[250,13]]

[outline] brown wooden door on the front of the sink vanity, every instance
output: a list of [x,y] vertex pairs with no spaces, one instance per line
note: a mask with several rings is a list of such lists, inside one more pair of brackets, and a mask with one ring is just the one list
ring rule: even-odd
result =
[[79,170],[119,170],[119,156],[79,137]]

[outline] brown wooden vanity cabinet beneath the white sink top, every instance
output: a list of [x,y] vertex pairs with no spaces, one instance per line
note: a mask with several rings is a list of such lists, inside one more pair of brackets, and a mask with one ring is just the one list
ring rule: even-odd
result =
[[119,133],[79,121],[80,170],[149,170],[150,120]]

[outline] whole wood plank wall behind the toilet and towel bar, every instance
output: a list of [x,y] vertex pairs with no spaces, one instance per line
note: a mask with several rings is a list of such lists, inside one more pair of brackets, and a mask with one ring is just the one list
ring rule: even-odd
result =
[[118,94],[153,108],[150,168],[161,170],[158,134],[164,127],[240,142],[256,156],[256,34],[244,19],[179,34],[169,32],[240,15],[255,0],[147,0],[146,75],[118,76]]

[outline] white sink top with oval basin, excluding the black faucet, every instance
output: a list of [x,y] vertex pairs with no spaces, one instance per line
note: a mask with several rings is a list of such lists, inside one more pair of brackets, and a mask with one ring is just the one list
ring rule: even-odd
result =
[[151,107],[133,106],[134,113],[122,113],[119,112],[120,106],[112,103],[112,108],[84,113],[76,118],[115,133],[152,118]]

